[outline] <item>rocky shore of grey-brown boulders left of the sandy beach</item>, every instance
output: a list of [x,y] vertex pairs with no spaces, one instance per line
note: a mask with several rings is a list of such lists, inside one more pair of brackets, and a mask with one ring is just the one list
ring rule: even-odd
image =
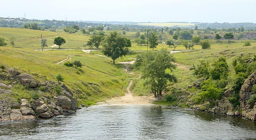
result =
[[[10,84],[5,84],[6,81]],[[13,87],[22,85],[37,92],[37,99],[15,98]],[[56,93],[54,88],[59,87]],[[44,91],[41,91],[43,89]],[[50,96],[47,93],[51,93]],[[65,84],[56,81],[38,81],[30,74],[21,74],[9,68],[0,73],[0,121],[51,118],[75,113],[77,99]]]

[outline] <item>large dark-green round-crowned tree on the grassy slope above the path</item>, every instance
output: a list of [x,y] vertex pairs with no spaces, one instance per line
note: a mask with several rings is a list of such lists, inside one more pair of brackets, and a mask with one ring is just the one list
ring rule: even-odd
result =
[[115,60],[125,56],[129,52],[129,47],[131,46],[132,43],[130,39],[127,39],[114,31],[104,40],[102,52],[107,57],[110,57],[113,60],[113,64],[115,64]]

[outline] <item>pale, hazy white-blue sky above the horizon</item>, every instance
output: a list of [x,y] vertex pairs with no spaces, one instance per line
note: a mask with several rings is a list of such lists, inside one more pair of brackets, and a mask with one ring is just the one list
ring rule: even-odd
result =
[[125,22],[256,23],[256,0],[3,0],[0,17]]

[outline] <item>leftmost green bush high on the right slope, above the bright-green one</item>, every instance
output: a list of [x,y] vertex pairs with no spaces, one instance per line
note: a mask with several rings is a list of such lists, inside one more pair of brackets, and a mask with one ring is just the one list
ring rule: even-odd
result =
[[209,77],[209,64],[208,61],[200,60],[200,64],[197,65],[197,68],[193,64],[193,68],[190,68],[190,70],[193,70],[195,72],[195,75],[198,75],[199,77]]

